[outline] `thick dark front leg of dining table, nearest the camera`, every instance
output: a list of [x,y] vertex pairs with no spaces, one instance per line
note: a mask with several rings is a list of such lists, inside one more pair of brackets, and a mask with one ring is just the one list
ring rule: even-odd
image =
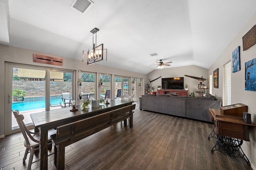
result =
[[40,170],[48,168],[48,128],[40,128]]

